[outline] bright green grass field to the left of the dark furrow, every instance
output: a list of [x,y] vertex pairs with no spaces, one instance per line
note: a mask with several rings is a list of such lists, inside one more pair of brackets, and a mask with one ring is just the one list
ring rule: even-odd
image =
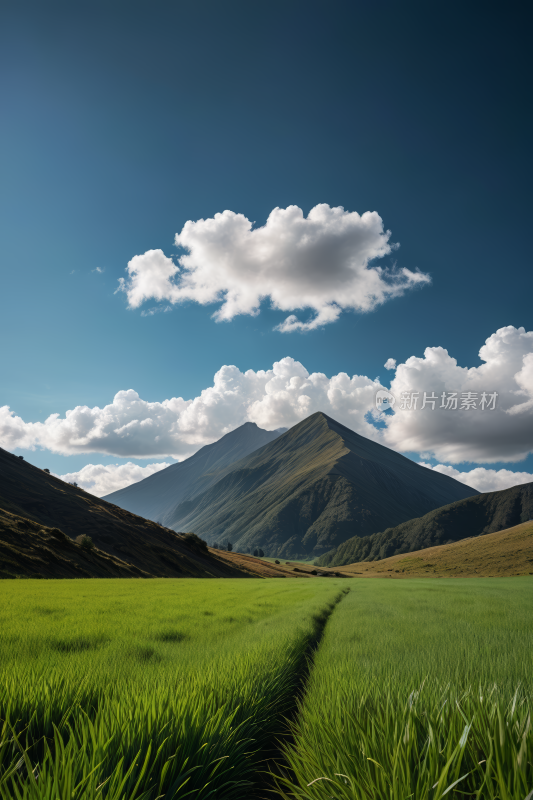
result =
[[252,797],[342,581],[5,581],[2,800]]

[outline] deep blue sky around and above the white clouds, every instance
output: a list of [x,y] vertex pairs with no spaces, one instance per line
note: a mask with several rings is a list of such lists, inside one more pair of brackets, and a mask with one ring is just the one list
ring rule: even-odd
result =
[[[388,386],[390,357],[442,347],[478,367],[497,330],[531,330],[524,13],[299,0],[4,6],[0,406],[31,423],[127,389],[189,399],[224,364],[268,370],[286,356]],[[276,207],[307,215],[317,204],[378,212],[400,243],[380,263],[431,285],[306,333],[274,331],[287,313],[268,300],[258,316],[217,323],[220,304],[142,316],[115,293],[134,256],[178,253],[188,220],[230,209],[260,227]],[[529,436],[531,416],[523,425]],[[16,452],[61,474],[125,460]],[[533,471],[531,456],[495,464]]]

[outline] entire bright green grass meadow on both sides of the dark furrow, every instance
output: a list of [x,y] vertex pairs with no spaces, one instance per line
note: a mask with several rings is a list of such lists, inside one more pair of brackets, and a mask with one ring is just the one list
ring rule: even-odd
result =
[[2,800],[533,791],[529,578],[1,589]]

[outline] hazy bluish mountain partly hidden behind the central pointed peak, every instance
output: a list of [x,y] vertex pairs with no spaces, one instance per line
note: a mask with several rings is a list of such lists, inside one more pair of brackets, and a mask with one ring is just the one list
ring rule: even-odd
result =
[[165,522],[176,505],[204,492],[218,480],[220,470],[272,442],[286,428],[265,431],[255,422],[245,422],[218,442],[202,447],[190,458],[172,464],[155,475],[103,499],[155,522]]

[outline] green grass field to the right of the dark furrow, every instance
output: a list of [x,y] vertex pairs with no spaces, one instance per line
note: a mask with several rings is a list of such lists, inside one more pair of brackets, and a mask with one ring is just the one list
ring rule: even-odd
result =
[[326,627],[279,796],[524,800],[533,581],[352,581]]

